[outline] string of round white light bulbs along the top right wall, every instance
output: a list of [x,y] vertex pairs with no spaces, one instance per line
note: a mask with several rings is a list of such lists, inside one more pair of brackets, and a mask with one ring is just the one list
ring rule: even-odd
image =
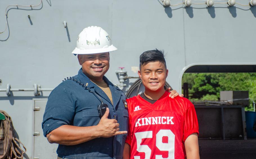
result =
[[256,0],[250,0],[249,4],[241,4],[235,2],[235,0],[228,0],[227,2],[215,2],[214,0],[207,0],[205,3],[192,3],[192,0],[185,0],[183,3],[178,3],[178,4],[171,4],[170,0],[161,0],[163,2],[163,5],[166,7],[169,6],[178,6],[185,4],[186,7],[191,6],[192,4],[206,4],[208,7],[213,6],[214,4],[228,4],[229,6],[234,6],[235,4],[239,4],[241,6],[256,6]]

